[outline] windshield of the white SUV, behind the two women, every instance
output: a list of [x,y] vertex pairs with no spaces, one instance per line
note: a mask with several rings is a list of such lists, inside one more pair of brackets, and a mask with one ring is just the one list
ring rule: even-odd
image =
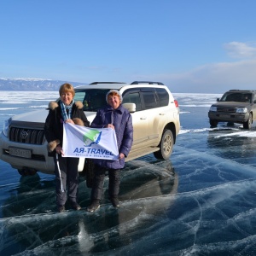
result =
[[109,89],[76,89],[75,101],[83,102],[84,111],[97,111],[107,104]]

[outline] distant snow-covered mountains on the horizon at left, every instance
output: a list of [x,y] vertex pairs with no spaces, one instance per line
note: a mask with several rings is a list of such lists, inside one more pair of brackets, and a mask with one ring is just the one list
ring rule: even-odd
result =
[[3,79],[0,78],[0,90],[59,90],[64,83],[73,86],[87,84],[71,81],[51,80],[51,79]]

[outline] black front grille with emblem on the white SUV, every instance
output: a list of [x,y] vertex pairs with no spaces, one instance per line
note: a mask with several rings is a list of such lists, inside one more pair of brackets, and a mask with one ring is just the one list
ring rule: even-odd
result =
[[44,130],[11,127],[9,140],[15,143],[44,144]]

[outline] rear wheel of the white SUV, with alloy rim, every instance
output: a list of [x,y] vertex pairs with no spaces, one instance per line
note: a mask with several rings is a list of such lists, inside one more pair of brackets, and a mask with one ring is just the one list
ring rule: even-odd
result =
[[154,152],[154,157],[157,159],[167,160],[172,154],[173,148],[173,134],[171,130],[165,130],[161,141],[160,141],[160,150]]

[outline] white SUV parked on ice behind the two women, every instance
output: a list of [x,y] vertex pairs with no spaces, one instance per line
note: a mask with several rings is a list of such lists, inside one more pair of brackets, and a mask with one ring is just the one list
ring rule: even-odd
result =
[[[150,153],[157,159],[168,159],[180,122],[177,101],[166,85],[136,81],[131,84],[95,82],[75,87],[74,100],[84,103],[84,113],[90,122],[96,111],[107,103],[106,94],[111,89],[120,91],[122,103],[132,116],[133,145],[126,161]],[[47,114],[47,109],[22,113],[5,122],[0,134],[0,158],[17,169],[20,175],[38,171],[54,173],[54,161],[48,156],[44,138]],[[79,172],[86,168],[84,166],[84,159],[80,159]]]

